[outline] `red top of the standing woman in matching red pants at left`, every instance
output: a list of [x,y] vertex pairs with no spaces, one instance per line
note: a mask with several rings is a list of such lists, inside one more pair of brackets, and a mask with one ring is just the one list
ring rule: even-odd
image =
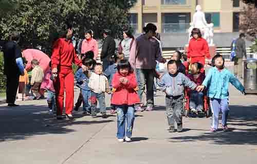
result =
[[79,66],[82,65],[82,62],[79,60],[71,41],[65,38],[60,38],[54,42],[51,61],[52,68],[72,68],[72,63]]

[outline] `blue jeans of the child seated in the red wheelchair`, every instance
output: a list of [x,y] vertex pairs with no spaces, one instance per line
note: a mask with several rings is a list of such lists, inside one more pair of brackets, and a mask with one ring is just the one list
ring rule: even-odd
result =
[[203,100],[204,98],[204,93],[202,92],[197,92],[196,90],[191,90],[190,92],[190,109],[195,108],[196,110],[203,110],[204,105],[203,105]]

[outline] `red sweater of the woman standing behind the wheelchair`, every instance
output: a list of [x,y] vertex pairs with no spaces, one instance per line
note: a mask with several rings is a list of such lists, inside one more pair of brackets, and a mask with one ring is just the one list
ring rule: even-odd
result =
[[188,46],[188,58],[206,57],[210,59],[209,46],[205,39],[198,38],[197,40],[192,38],[189,41]]

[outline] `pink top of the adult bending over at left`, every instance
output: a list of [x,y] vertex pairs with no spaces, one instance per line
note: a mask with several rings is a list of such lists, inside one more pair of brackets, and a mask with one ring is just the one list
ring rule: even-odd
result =
[[25,69],[29,71],[32,69],[31,61],[33,59],[36,59],[39,61],[39,66],[43,69],[44,74],[50,69],[49,63],[50,63],[50,58],[42,52],[41,50],[38,49],[25,49],[22,51],[22,57],[26,59],[27,64]]

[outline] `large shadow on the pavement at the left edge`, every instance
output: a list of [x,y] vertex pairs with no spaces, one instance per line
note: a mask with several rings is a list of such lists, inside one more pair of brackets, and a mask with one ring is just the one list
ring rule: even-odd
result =
[[47,106],[43,105],[21,105],[9,108],[0,107],[0,142],[8,140],[20,140],[30,138],[34,135],[65,134],[74,132],[68,127],[75,124],[95,124],[112,122],[111,119],[96,121],[77,121],[81,117],[90,117],[75,113],[75,120],[57,120],[54,115],[48,113]]

